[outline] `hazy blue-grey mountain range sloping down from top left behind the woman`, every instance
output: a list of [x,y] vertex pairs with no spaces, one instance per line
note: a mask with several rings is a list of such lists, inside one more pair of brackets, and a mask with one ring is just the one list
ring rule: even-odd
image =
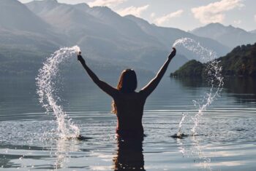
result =
[[[233,46],[193,32],[158,27],[132,15],[121,17],[108,7],[61,4],[56,0],[27,4],[1,0],[0,73],[37,73],[50,53],[75,44],[91,63],[97,63],[97,68],[129,66],[154,72],[165,61],[176,39],[195,39],[218,56],[225,55]],[[170,71],[191,59],[197,56],[178,47]]]

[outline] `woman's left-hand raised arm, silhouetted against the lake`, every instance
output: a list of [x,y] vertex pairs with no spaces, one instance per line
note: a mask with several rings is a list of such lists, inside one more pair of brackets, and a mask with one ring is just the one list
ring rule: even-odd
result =
[[79,52],[79,55],[78,55],[78,60],[83,65],[83,68],[85,68],[86,72],[91,77],[92,81],[94,81],[94,83],[97,84],[97,86],[101,90],[103,90],[108,95],[110,95],[112,98],[114,98],[116,96],[116,94],[118,93],[118,90],[116,88],[110,86],[109,84],[107,84],[105,81],[100,80],[97,77],[97,75],[93,71],[91,71],[91,69],[88,67],[88,65],[86,65],[86,61],[80,55],[80,52]]

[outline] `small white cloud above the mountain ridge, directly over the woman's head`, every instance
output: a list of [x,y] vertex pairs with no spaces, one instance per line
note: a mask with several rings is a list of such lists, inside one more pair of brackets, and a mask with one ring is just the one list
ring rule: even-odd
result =
[[146,11],[146,9],[148,9],[149,5],[144,5],[144,6],[141,6],[141,7],[127,7],[127,8],[124,8],[124,9],[118,9],[117,10],[117,13],[121,16],[124,16],[124,15],[135,15],[137,17],[140,17],[141,13]]

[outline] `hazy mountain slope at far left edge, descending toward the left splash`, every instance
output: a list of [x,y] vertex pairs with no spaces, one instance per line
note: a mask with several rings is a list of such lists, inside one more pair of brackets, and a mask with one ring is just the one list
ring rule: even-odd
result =
[[52,50],[61,42],[51,26],[16,0],[0,1],[0,45]]

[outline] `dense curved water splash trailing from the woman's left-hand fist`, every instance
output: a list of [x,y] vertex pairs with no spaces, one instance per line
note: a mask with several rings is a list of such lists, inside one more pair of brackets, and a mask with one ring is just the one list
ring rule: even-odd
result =
[[69,119],[62,106],[58,104],[61,98],[56,93],[58,92],[56,83],[59,80],[57,76],[59,76],[60,65],[67,62],[72,55],[79,51],[80,47],[78,46],[57,50],[43,63],[36,78],[39,102],[47,114],[53,112],[56,116],[60,138],[77,138],[80,135],[78,126],[72,123],[72,119]]

